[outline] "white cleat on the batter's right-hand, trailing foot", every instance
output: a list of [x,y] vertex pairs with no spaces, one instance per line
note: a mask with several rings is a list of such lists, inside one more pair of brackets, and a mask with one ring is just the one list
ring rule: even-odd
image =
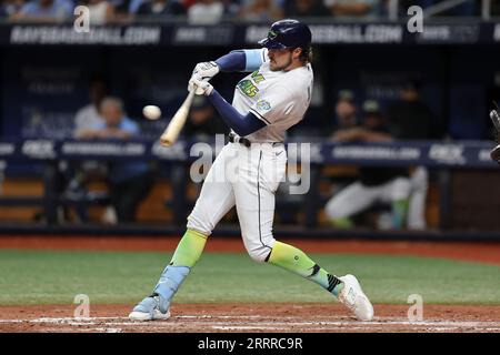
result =
[[361,285],[354,275],[339,277],[343,282],[343,288],[339,294],[339,301],[351,310],[360,321],[371,321],[373,318],[373,306],[367,295],[361,290]]

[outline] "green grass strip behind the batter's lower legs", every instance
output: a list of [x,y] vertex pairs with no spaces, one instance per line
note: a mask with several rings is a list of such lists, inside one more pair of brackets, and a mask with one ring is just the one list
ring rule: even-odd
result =
[[[0,304],[133,304],[149,294],[168,253],[0,250]],[[388,255],[311,254],[337,275],[352,273],[373,303],[500,304],[500,267]],[[176,302],[331,302],[316,284],[244,254],[204,254]]]

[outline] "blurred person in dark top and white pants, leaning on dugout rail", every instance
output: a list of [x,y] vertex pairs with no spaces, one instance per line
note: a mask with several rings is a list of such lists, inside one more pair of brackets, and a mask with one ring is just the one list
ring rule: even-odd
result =
[[[392,141],[377,101],[364,102],[363,113],[364,119],[361,126],[339,130],[333,135],[333,141]],[[351,227],[353,215],[376,203],[390,204],[391,226],[402,229],[407,216],[410,190],[411,184],[407,169],[362,166],[359,169],[359,181],[348,185],[330,199],[326,212],[334,226]]]

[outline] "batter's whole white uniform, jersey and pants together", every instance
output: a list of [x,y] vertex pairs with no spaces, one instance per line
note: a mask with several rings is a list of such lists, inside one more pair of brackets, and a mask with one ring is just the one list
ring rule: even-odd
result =
[[210,168],[200,196],[188,217],[188,229],[210,235],[236,205],[241,236],[250,256],[264,261],[276,240],[272,234],[274,194],[287,170],[286,131],[302,120],[311,101],[310,64],[288,72],[271,71],[267,50],[244,50],[246,71],[253,71],[236,88],[232,105],[249,112],[266,126],[247,135],[261,144],[228,143]]

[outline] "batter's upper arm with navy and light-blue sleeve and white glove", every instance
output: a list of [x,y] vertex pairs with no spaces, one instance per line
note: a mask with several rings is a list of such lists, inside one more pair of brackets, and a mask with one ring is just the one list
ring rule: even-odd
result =
[[194,67],[193,74],[210,80],[219,72],[251,72],[266,62],[267,49],[242,49],[231,51],[211,62],[201,62]]

